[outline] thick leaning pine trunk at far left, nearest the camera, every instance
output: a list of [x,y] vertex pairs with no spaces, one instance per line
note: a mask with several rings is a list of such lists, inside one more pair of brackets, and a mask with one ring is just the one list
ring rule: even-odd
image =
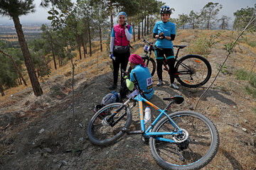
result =
[[35,67],[33,65],[33,62],[31,60],[31,55],[28,51],[28,45],[26,43],[24,34],[23,34],[23,30],[22,30],[22,26],[21,23],[19,21],[18,16],[13,16],[13,20],[14,20],[14,26],[16,29],[16,33],[18,35],[18,42],[21,45],[21,50],[23,53],[23,57],[24,57],[24,61],[25,61],[25,65],[26,68],[28,70],[28,77],[31,80],[31,85],[33,88],[33,92],[35,94],[35,96],[41,96],[43,94],[43,90],[41,89],[41,86],[39,84],[39,81],[36,77],[36,72],[35,72]]

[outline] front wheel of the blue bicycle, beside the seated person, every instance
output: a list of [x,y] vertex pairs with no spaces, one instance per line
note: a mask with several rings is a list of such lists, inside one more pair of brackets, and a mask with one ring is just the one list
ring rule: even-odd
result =
[[[122,109],[107,121],[118,108]],[[123,103],[111,103],[97,111],[90,120],[87,130],[89,140],[95,145],[111,145],[124,135],[122,129],[129,128],[131,123],[132,114],[129,107]]]

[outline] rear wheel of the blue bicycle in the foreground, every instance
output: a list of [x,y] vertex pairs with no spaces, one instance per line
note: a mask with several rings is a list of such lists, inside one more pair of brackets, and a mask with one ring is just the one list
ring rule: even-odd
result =
[[[174,143],[149,138],[151,154],[164,169],[201,169],[215,156],[219,135],[215,125],[205,115],[193,111],[171,113],[170,118],[183,131],[182,135],[162,135]],[[175,132],[169,118],[156,124],[153,132]]]

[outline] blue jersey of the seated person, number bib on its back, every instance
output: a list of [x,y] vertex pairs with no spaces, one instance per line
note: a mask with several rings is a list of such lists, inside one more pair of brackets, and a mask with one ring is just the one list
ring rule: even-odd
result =
[[133,72],[135,72],[136,74],[140,89],[144,91],[144,96],[146,96],[146,99],[149,100],[154,94],[154,89],[152,77],[148,67],[142,67],[140,64],[135,66],[135,68],[132,69],[132,72],[130,74],[131,81],[134,81]]

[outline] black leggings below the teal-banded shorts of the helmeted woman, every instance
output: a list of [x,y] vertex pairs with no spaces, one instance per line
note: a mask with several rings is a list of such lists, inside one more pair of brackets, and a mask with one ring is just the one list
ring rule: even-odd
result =
[[[156,60],[156,71],[157,71],[157,76],[159,77],[159,79],[163,80],[162,77],[162,72],[163,72],[163,62],[164,60]],[[174,73],[175,73],[175,69],[174,69],[174,64],[175,64],[175,60],[174,58],[171,58],[169,60],[167,60],[167,64],[169,66],[169,75],[170,75],[170,80],[171,80],[171,84],[174,83]]]

